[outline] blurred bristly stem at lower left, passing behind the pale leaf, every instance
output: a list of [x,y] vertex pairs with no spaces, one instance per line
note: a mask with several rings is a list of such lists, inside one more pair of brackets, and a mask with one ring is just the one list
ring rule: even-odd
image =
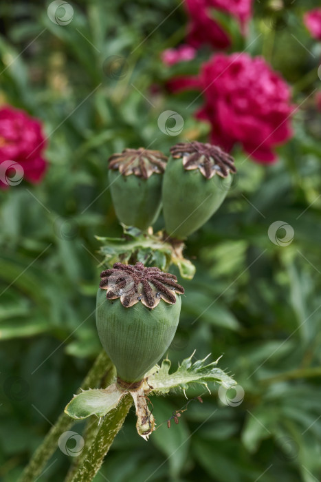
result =
[[[111,370],[113,365],[107,354],[102,351],[100,355],[96,358],[95,363],[89,370],[84,381],[82,381],[81,388],[83,390],[88,390],[88,388],[95,388],[100,386],[100,381],[107,370]],[[78,390],[79,392],[80,390]],[[32,482],[36,479],[41,471],[45,467],[47,460],[52,456],[58,447],[58,439],[63,432],[69,430],[69,428],[74,424],[74,420],[62,413],[54,426],[47,433],[43,443],[34,452],[32,459],[28,463],[27,467],[21,474],[19,482]]]

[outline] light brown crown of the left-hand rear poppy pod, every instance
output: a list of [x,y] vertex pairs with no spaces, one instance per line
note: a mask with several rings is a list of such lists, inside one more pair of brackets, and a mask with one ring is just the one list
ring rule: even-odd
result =
[[124,149],[109,158],[109,169],[120,171],[123,176],[135,176],[148,179],[152,174],[162,174],[166,168],[167,156],[161,151]]

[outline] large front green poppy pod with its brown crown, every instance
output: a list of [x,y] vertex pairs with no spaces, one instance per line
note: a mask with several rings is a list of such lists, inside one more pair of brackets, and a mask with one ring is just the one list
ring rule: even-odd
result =
[[177,278],[144,264],[115,263],[101,273],[96,325],[118,381],[141,381],[164,355],[179,322],[184,289]]

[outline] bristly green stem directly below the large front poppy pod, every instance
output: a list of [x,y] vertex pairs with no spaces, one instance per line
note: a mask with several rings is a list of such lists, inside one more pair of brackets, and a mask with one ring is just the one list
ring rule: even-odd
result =
[[113,443],[113,439],[115,439],[115,436],[122,428],[132,404],[133,399],[131,395],[126,395],[122,398],[120,404],[104,417],[96,439],[91,443],[91,447],[87,452],[87,457],[74,474],[71,482],[90,482],[93,480]]

